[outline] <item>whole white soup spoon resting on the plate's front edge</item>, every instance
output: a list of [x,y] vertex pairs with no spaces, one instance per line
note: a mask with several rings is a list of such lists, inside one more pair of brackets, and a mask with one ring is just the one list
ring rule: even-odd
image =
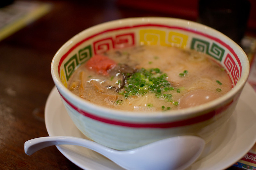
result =
[[118,151],[78,137],[39,137],[24,144],[25,153],[32,155],[47,146],[72,144],[89,148],[128,170],[182,170],[202,153],[205,142],[196,136],[163,139],[127,151]]

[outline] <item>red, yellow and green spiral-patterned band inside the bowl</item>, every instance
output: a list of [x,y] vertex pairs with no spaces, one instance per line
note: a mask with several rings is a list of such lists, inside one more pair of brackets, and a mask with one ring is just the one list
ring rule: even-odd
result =
[[[120,32],[117,31],[117,33],[115,33],[115,30]],[[241,63],[233,49],[211,35],[182,27],[138,25],[135,27],[120,27],[95,33],[70,48],[59,64],[59,75],[63,85],[67,85],[67,81],[74,70],[79,65],[86,62],[92,55],[102,54],[111,49],[120,49],[135,45],[161,45],[191,48],[208,54],[217,61],[224,63],[226,69],[230,72],[234,85],[236,85],[241,76]],[[73,54],[74,52],[76,54]]]

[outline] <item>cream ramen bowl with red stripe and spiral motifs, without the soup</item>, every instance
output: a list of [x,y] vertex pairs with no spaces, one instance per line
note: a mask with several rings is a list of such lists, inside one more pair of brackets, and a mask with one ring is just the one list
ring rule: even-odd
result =
[[[206,53],[224,67],[233,89],[208,103],[168,112],[139,113],[90,103],[67,88],[81,64],[112,49],[139,45],[178,46]],[[209,142],[235,110],[249,74],[244,51],[224,34],[177,18],[126,18],[90,27],[55,54],[51,73],[62,102],[77,128],[91,140],[128,150],[163,138],[194,135]]]

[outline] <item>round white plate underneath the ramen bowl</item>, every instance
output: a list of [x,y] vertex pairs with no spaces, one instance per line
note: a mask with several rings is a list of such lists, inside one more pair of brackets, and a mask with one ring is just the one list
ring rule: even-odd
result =
[[[256,93],[246,83],[234,114],[214,139],[208,143],[201,158],[188,170],[218,170],[232,166],[256,142]],[[51,91],[45,106],[45,124],[49,136],[86,138],[71,121],[56,87]],[[59,145],[59,151],[77,166],[86,170],[122,170],[109,159],[87,148]]]

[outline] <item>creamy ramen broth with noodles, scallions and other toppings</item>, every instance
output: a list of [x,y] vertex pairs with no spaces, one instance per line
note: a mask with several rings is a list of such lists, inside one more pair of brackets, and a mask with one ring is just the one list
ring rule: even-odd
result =
[[[135,77],[149,72],[149,78]],[[162,84],[152,91],[157,81]],[[130,92],[136,89],[136,83],[139,87]],[[93,56],[68,81],[70,91],[92,103],[145,112],[200,105],[232,87],[227,71],[210,56],[165,46],[139,46]]]

